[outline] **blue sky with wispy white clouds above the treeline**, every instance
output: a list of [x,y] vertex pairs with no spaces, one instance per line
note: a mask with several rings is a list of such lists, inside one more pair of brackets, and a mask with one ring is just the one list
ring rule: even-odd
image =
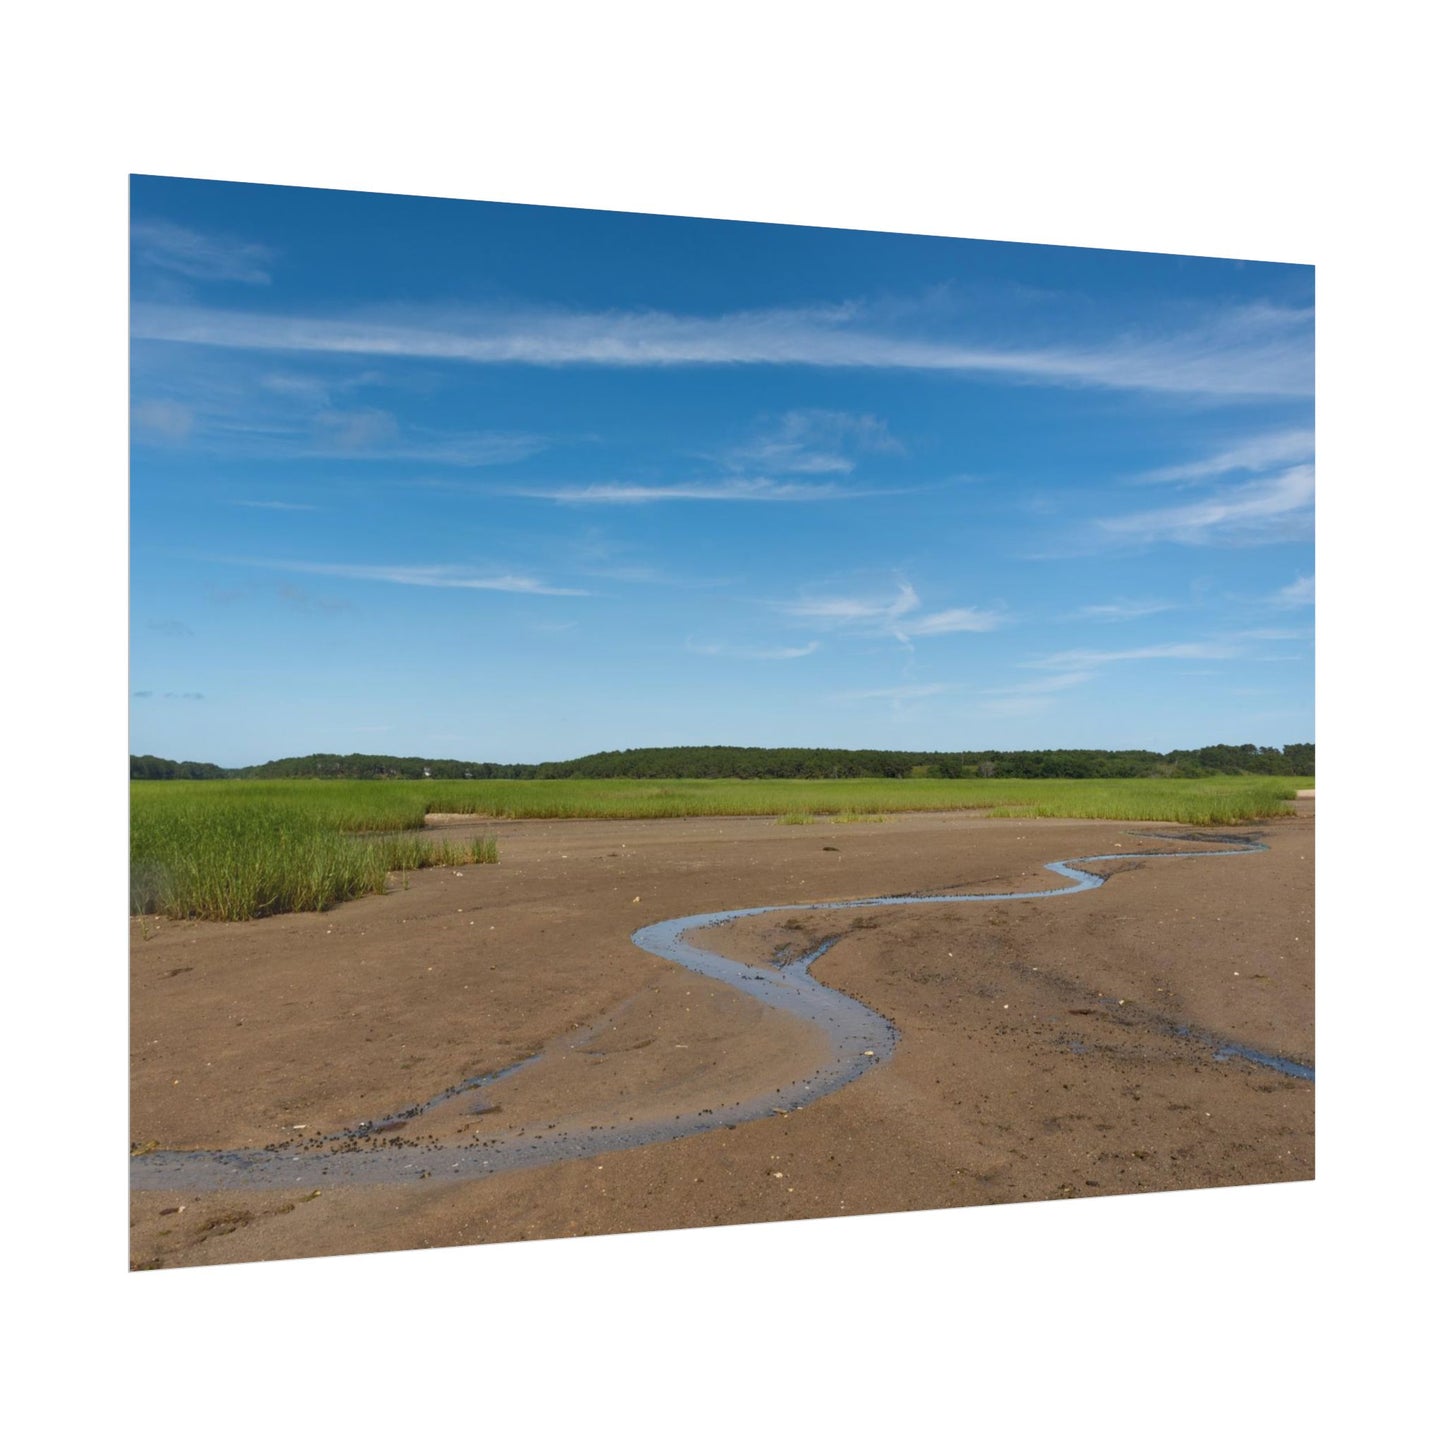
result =
[[1314,738],[1314,270],[134,178],[131,751]]

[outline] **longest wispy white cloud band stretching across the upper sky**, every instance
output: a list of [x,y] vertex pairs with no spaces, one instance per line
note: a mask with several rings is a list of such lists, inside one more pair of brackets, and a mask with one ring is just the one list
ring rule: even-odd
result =
[[886,329],[863,306],[668,312],[413,312],[308,318],[142,303],[136,337],[210,347],[523,366],[816,366],[980,373],[1017,381],[1217,396],[1308,396],[1314,314],[1253,305],[1192,329],[1033,348]]

